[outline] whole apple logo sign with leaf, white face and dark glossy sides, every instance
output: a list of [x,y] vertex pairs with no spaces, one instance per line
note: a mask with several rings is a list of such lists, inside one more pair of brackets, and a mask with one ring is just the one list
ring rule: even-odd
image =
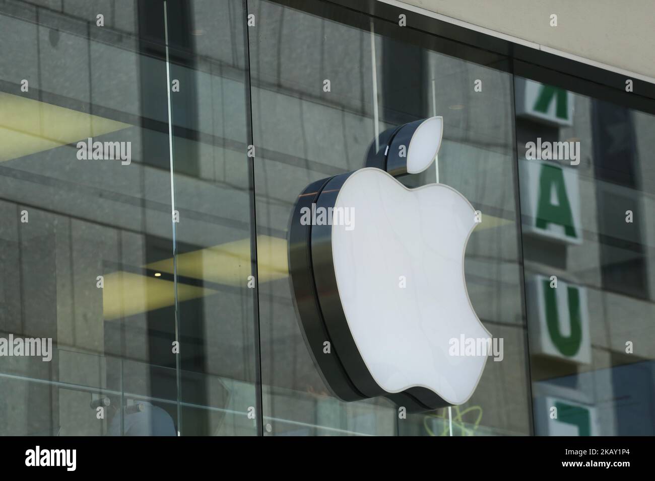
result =
[[[289,228],[297,317],[322,378],[344,401],[386,396],[414,411],[462,404],[483,372],[486,356],[449,354],[453,338],[491,338],[464,279],[476,211],[447,185],[407,188],[394,178],[427,169],[442,136],[440,116],[388,130],[365,168],[316,181],[297,198]],[[350,211],[353,222],[316,222],[322,209]]]

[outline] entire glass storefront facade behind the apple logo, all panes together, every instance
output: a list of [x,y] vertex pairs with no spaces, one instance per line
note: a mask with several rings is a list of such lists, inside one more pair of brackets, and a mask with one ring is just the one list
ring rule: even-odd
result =
[[[0,0],[0,45],[0,340],[52,340],[0,345],[0,435],[655,434],[650,103],[320,0]],[[288,232],[433,115],[398,180],[481,211],[466,288],[503,352],[405,417],[331,394]]]

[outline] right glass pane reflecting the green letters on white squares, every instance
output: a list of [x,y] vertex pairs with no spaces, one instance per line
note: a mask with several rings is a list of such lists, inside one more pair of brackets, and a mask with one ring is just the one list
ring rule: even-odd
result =
[[655,116],[515,85],[535,433],[653,435]]

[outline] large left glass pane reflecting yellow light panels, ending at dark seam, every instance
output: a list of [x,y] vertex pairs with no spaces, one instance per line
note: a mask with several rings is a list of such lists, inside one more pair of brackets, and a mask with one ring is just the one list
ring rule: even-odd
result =
[[0,435],[255,434],[242,3],[48,7],[0,6]]

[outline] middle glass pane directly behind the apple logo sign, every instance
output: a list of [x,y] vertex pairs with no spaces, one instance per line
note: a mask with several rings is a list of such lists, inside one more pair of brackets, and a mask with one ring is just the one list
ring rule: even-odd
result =
[[[371,25],[343,9],[314,14],[310,5],[305,12],[268,1],[248,7],[256,18],[276,19],[249,30],[257,232],[269,238],[257,245],[265,434],[449,435],[449,421],[453,435],[529,434],[506,61],[491,54],[477,55],[488,67],[458,60],[441,53],[461,50],[443,39],[398,38],[396,26]],[[476,79],[484,94],[474,92]],[[419,187],[439,179],[482,211],[466,249],[466,286],[483,325],[504,340],[504,359],[489,357],[476,393],[450,417],[441,409],[399,419],[389,399],[345,402],[327,387],[295,312],[286,242],[293,205],[307,186],[364,167],[377,134],[435,113],[444,118],[438,171],[399,180]],[[261,276],[262,259],[276,260],[274,275]]]

